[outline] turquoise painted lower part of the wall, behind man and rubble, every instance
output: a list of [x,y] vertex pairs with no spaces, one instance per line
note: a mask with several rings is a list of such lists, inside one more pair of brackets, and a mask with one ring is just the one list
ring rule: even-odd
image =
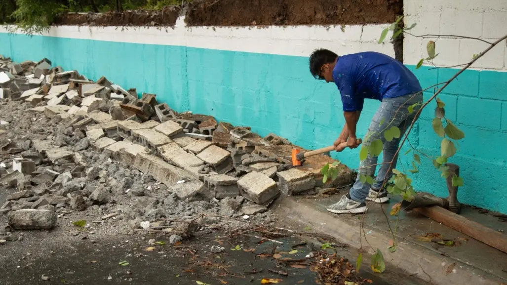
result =
[[[157,94],[176,111],[214,115],[234,125],[251,126],[315,149],[332,144],[344,124],[336,87],[314,80],[308,58],[231,52],[179,46],[145,45],[0,33],[0,54],[16,61],[47,57],[65,70],[90,79],[106,76],[124,88]],[[450,78],[455,69],[412,68],[424,87]],[[425,97],[430,96],[430,92]],[[470,70],[440,96],[446,116],[466,137],[452,158],[461,166],[461,202],[507,213],[507,73]],[[358,125],[363,136],[379,102],[365,102]],[[424,110],[410,135],[429,156],[440,152],[431,127],[434,104]],[[336,154],[358,165],[358,150]],[[411,156],[402,158],[410,167]],[[399,166],[400,167],[400,166]],[[418,190],[447,196],[445,181],[430,160],[414,174]]]

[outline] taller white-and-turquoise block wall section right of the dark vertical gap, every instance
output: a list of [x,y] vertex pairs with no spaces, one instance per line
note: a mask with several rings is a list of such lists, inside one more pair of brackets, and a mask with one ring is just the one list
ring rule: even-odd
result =
[[[404,63],[418,76],[423,88],[445,82],[461,66],[433,68],[424,65],[415,69],[417,62],[427,57],[426,44],[436,41],[440,53],[433,63],[438,67],[465,64],[474,54],[489,44],[474,39],[494,42],[507,34],[507,2],[479,0],[405,0],[405,21],[417,23],[410,32],[424,37],[407,35],[404,40]],[[436,35],[443,35],[437,37]],[[424,98],[432,96],[427,90]],[[461,166],[464,186],[458,199],[488,209],[507,212],[507,47],[505,42],[490,50],[465,70],[439,95],[445,102],[446,118],[464,131],[457,155],[450,161]],[[430,156],[440,155],[441,139],[434,133],[431,120],[436,103],[432,102],[422,113],[417,127],[418,149]],[[410,163],[409,158],[406,163]],[[447,196],[445,182],[431,161],[424,160],[421,171],[413,175],[419,190],[429,190]],[[438,184],[438,187],[437,185]]]

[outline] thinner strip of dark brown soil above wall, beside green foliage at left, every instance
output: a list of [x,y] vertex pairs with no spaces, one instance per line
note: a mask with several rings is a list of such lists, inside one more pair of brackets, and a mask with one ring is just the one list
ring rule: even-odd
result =
[[87,26],[174,26],[179,7],[165,7],[162,11],[124,11],[108,13],[69,13],[58,17],[55,25]]

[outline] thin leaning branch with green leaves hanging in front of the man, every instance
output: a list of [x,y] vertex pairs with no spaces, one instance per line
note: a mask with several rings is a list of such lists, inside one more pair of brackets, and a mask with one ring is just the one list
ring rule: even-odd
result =
[[[383,185],[381,189],[386,189],[388,193],[391,195],[400,195],[403,200],[406,200],[408,202],[412,202],[417,195],[417,191],[414,189],[412,185],[412,178],[410,175],[414,175],[419,172],[418,165],[421,164],[421,155],[431,160],[431,163],[433,164],[434,168],[437,169],[441,173],[441,177],[444,177],[447,179],[449,175],[452,175],[452,185],[453,186],[463,186],[463,179],[460,176],[457,176],[454,172],[449,171],[449,166],[446,166],[446,163],[449,159],[451,159],[457,152],[456,146],[459,147],[459,140],[463,139],[465,137],[465,134],[462,130],[460,130],[454,122],[449,120],[445,117],[445,102],[443,102],[440,98],[437,96],[444,90],[453,80],[455,80],[464,70],[466,70],[468,67],[470,67],[475,61],[477,61],[479,58],[481,58],[484,54],[486,54],[488,51],[490,51],[494,46],[498,45],[499,43],[505,41],[507,39],[507,35],[504,35],[502,38],[498,39],[495,42],[487,42],[482,39],[478,38],[472,38],[472,37],[466,37],[466,36],[460,36],[460,35],[435,35],[435,34],[426,34],[426,35],[414,35],[409,32],[412,28],[416,26],[416,23],[411,24],[410,26],[407,26],[403,24],[402,22],[403,16],[397,17],[396,21],[392,23],[389,27],[382,30],[380,39],[378,41],[379,44],[382,44],[384,40],[387,37],[387,34],[389,31],[392,31],[391,41],[395,40],[397,37],[399,37],[401,34],[408,34],[412,37],[417,38],[423,38],[423,37],[436,37],[437,40],[440,37],[454,37],[454,38],[466,38],[466,39],[475,39],[482,42],[488,43],[490,46],[486,48],[483,52],[479,54],[472,55],[472,59],[466,63],[466,64],[460,64],[455,66],[448,66],[448,67],[438,67],[436,64],[433,63],[433,59],[436,58],[439,54],[436,53],[436,41],[428,41],[426,44],[426,52],[427,57],[421,58],[419,62],[416,65],[416,69],[420,68],[424,63],[428,65],[433,65],[434,68],[450,68],[450,67],[456,67],[456,66],[463,66],[453,77],[451,77],[449,80],[445,82],[441,82],[435,85],[432,85],[423,91],[429,90],[431,88],[438,87],[438,90],[433,93],[433,95],[426,100],[424,103],[416,103],[413,105],[410,105],[408,107],[409,114],[412,114],[416,112],[414,119],[410,122],[410,125],[408,126],[406,132],[402,135],[402,132],[399,127],[392,126],[392,122],[387,122],[386,126],[380,131],[383,132],[384,139],[386,141],[392,141],[393,139],[401,139],[399,148],[396,150],[393,159],[387,164],[389,164],[392,176],[387,180],[388,175],[391,175],[389,171],[386,173],[386,175],[383,177]],[[429,156],[424,153],[422,153],[420,150],[417,150],[410,144],[410,140],[408,139],[408,136],[410,132],[412,131],[417,119],[419,118],[419,115],[421,111],[431,102],[435,101],[437,106],[434,110],[434,118],[431,121],[432,128],[435,132],[435,134],[441,138],[441,144],[440,144],[440,155],[439,156]],[[397,112],[397,111],[396,111]],[[385,122],[381,121],[380,125],[384,125]],[[404,126],[405,127],[405,126]],[[375,133],[369,132],[367,133],[363,145],[360,148],[359,151],[359,160],[363,162],[367,159],[368,155],[370,156],[376,156],[378,157],[382,151],[383,151],[383,140],[382,139],[375,139],[371,141],[369,144],[365,144],[365,141],[369,141],[369,138]],[[399,159],[399,153],[402,150],[403,146],[405,145],[405,142],[409,142],[410,149],[405,152],[405,155],[408,155],[410,152],[412,152],[412,169],[408,169],[408,171],[405,171],[405,169],[396,169],[392,168],[392,165],[396,162],[396,160]],[[373,185],[375,183],[374,177],[371,175],[364,174],[365,169],[374,167],[376,165],[385,164],[385,163],[378,163],[375,165],[368,165],[364,167],[360,167],[358,169],[355,169],[359,173],[359,180],[363,183],[368,183],[370,185]],[[323,182],[326,183],[329,179],[331,181],[335,180],[337,177],[338,169],[339,169],[340,162],[334,162],[333,164],[327,164],[324,165],[321,168],[321,172],[324,176]],[[410,174],[409,174],[410,173]],[[369,204],[372,203],[372,201],[367,201]],[[382,206],[382,204],[381,204]],[[385,218],[388,222],[389,229],[392,234],[392,244],[387,246],[389,252],[393,253],[396,251],[396,233],[398,229],[398,222],[400,219],[400,208],[401,208],[401,202],[396,203],[390,210],[391,216],[396,216],[396,226],[394,228],[394,231],[390,228],[389,219],[386,215],[385,211],[382,209],[382,212],[385,215]],[[366,215],[366,213],[364,214]],[[364,216],[363,216],[364,217]],[[360,247],[361,250],[363,248],[363,238],[365,241],[369,244],[367,236],[365,234],[364,230],[364,219],[361,219],[361,231],[363,234],[361,234],[361,240],[360,240]],[[374,272],[383,272],[385,270],[385,263],[384,263],[384,257],[379,248],[375,250],[370,244],[369,246],[372,248],[372,251],[374,252],[372,258],[371,258],[371,268]],[[360,252],[364,252],[361,251]],[[356,264],[356,271],[359,270],[359,267],[361,266],[361,263],[363,261],[363,255],[362,253],[359,253],[359,256],[357,258],[357,264]]]

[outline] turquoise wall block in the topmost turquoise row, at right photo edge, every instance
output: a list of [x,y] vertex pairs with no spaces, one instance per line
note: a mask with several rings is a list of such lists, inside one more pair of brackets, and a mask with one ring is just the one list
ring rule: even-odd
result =
[[507,101],[507,72],[483,70],[479,77],[479,97]]

